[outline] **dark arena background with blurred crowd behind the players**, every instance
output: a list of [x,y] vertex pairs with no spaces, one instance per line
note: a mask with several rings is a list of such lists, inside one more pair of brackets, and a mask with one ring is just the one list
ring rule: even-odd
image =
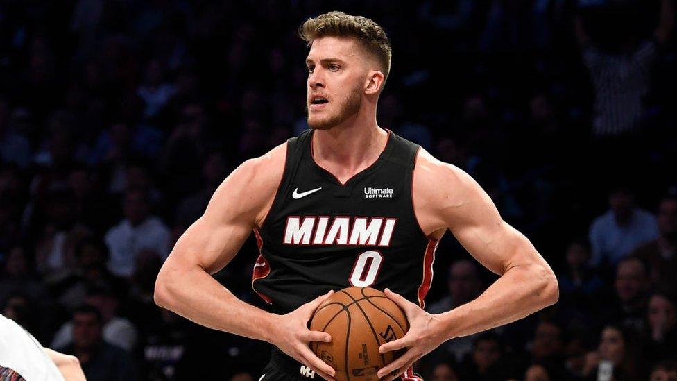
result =
[[[307,128],[296,31],[329,10],[391,38],[379,125],[470,173],[560,285],[417,371],[675,380],[669,0],[0,1],[1,313],[89,380],[257,380],[268,344],[160,309],[153,286],[223,178]],[[267,308],[257,255],[252,236],[216,278]],[[496,278],[448,232],[434,270],[429,312]]]

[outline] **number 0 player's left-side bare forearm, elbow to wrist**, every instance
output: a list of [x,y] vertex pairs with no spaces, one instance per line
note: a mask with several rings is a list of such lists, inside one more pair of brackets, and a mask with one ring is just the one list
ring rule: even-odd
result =
[[271,341],[275,315],[239,300],[199,266],[161,272],[155,303],[214,330]]

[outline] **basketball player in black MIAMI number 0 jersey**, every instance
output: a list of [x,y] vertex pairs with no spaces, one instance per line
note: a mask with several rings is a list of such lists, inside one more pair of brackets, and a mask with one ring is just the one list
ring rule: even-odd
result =
[[[223,181],[162,266],[156,303],[209,328],[273,344],[264,381],[334,379],[334,369],[308,346],[331,337],[309,331],[307,322],[343,287],[387,287],[406,312],[409,332],[380,348],[407,348],[379,371],[384,380],[415,379],[413,362],[444,341],[555,303],[552,270],[529,239],[502,221],[481,187],[377,124],[391,62],[383,29],[329,12],[305,22],[300,35],[310,46],[311,128]],[[210,276],[252,230],[261,253],[252,287],[273,313],[243,303]],[[446,230],[501,277],[472,302],[433,315],[422,310],[423,299]]]

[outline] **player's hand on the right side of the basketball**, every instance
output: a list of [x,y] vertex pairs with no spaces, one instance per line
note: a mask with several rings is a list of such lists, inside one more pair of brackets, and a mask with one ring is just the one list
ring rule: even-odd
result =
[[380,353],[407,348],[400,358],[379,369],[377,373],[379,379],[391,381],[402,375],[411,364],[440,346],[445,340],[440,332],[442,324],[436,315],[425,312],[418,305],[406,300],[400,294],[395,294],[390,289],[386,289],[385,294],[388,299],[393,300],[402,308],[406,319],[409,320],[409,331],[404,337],[379,347]]

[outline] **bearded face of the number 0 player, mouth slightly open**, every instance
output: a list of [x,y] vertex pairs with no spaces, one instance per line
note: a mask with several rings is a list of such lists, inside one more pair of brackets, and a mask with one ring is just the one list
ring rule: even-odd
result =
[[359,112],[368,67],[366,53],[352,38],[313,41],[308,69],[308,125],[327,130]]

